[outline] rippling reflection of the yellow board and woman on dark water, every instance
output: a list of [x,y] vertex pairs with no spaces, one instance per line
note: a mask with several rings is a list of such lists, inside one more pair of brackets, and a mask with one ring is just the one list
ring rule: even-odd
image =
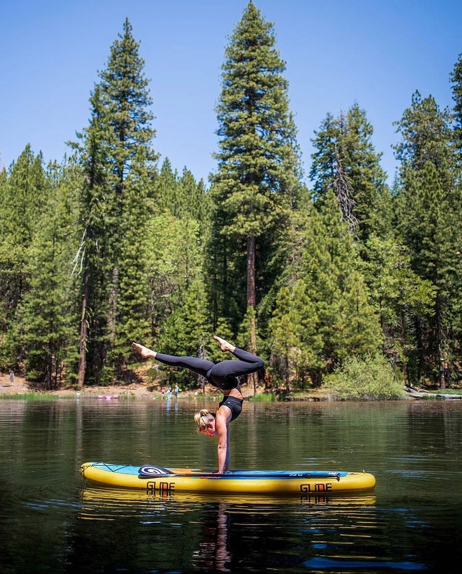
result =
[[[294,548],[301,537],[308,538],[309,544],[298,550],[301,556],[310,548],[318,553],[322,547],[332,559],[351,559],[352,545],[356,554],[358,548],[364,547],[364,540],[374,537],[378,530],[375,503],[374,494],[268,497],[196,492],[147,494],[143,490],[87,487],[80,491],[79,518],[117,521],[131,517],[141,525],[157,524],[161,528],[181,521],[198,528],[191,548],[191,565],[198,571],[232,572],[242,561],[243,553],[249,552],[249,541],[258,538],[256,529],[282,544],[290,540]],[[281,529],[283,537],[278,534]],[[338,535],[341,540],[331,546],[329,539]],[[271,561],[276,564],[275,556],[280,552],[278,542],[266,550],[268,568]]]

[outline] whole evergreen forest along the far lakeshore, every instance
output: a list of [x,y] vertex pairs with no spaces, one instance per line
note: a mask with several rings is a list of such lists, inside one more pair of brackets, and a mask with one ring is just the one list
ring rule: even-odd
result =
[[357,102],[320,118],[303,172],[275,44],[249,2],[222,63],[216,169],[197,181],[156,152],[122,23],[64,160],[27,145],[0,172],[1,372],[123,384],[132,341],[220,360],[217,334],[264,358],[254,391],[322,387],[352,360],[402,386],[462,384],[462,53],[452,108],[416,90],[396,118],[390,187]]

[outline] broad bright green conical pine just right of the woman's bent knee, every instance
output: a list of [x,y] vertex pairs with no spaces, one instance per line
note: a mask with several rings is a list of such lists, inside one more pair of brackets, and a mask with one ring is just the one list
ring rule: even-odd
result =
[[[319,385],[350,355],[378,350],[381,335],[348,225],[331,190],[299,217],[270,321],[270,342],[290,381]],[[279,358],[278,358],[279,356]],[[282,363],[281,363],[282,361]]]

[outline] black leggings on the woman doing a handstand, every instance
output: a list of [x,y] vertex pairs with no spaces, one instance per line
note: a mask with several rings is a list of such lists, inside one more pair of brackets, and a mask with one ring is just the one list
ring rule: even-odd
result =
[[264,366],[263,359],[252,355],[247,351],[235,348],[233,355],[239,360],[223,360],[220,363],[213,363],[211,360],[199,359],[198,357],[177,357],[174,355],[156,354],[156,360],[167,364],[169,367],[184,367],[194,373],[202,375],[218,389],[234,389],[238,382],[236,377],[255,373]]

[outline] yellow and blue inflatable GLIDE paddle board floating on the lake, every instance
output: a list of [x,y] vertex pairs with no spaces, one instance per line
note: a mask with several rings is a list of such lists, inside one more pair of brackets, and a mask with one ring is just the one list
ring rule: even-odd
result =
[[214,474],[191,468],[163,468],[144,464],[83,463],[80,474],[84,479],[119,488],[144,488],[149,493],[255,492],[272,494],[323,494],[370,490],[375,476],[368,472],[347,471],[233,471]]

